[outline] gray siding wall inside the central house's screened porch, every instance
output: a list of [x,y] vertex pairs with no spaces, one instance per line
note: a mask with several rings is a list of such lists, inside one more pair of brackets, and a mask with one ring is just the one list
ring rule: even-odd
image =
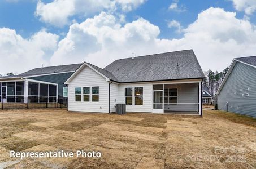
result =
[[[165,87],[177,88],[177,103],[198,103],[198,84],[170,84]],[[183,105],[167,105],[164,104],[164,110],[166,111],[198,111],[198,104],[183,104]]]

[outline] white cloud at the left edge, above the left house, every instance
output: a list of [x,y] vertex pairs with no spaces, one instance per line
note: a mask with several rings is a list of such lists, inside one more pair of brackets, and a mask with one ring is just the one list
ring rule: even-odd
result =
[[41,30],[31,38],[24,39],[15,30],[1,28],[0,74],[21,73],[42,64],[49,64],[47,56],[57,49],[58,38],[58,35]]

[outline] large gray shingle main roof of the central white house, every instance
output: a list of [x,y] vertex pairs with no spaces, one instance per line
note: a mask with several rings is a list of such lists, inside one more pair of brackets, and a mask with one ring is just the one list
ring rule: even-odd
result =
[[193,50],[119,59],[104,69],[122,83],[205,78]]

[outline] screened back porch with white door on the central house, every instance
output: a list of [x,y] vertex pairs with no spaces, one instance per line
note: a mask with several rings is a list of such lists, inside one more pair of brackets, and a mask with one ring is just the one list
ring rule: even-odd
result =
[[153,113],[202,115],[201,81],[153,85]]

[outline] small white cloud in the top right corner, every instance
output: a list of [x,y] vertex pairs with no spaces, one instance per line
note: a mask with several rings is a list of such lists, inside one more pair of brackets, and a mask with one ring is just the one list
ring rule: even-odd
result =
[[244,11],[245,14],[251,15],[256,11],[256,1],[255,0],[231,0],[236,10]]

